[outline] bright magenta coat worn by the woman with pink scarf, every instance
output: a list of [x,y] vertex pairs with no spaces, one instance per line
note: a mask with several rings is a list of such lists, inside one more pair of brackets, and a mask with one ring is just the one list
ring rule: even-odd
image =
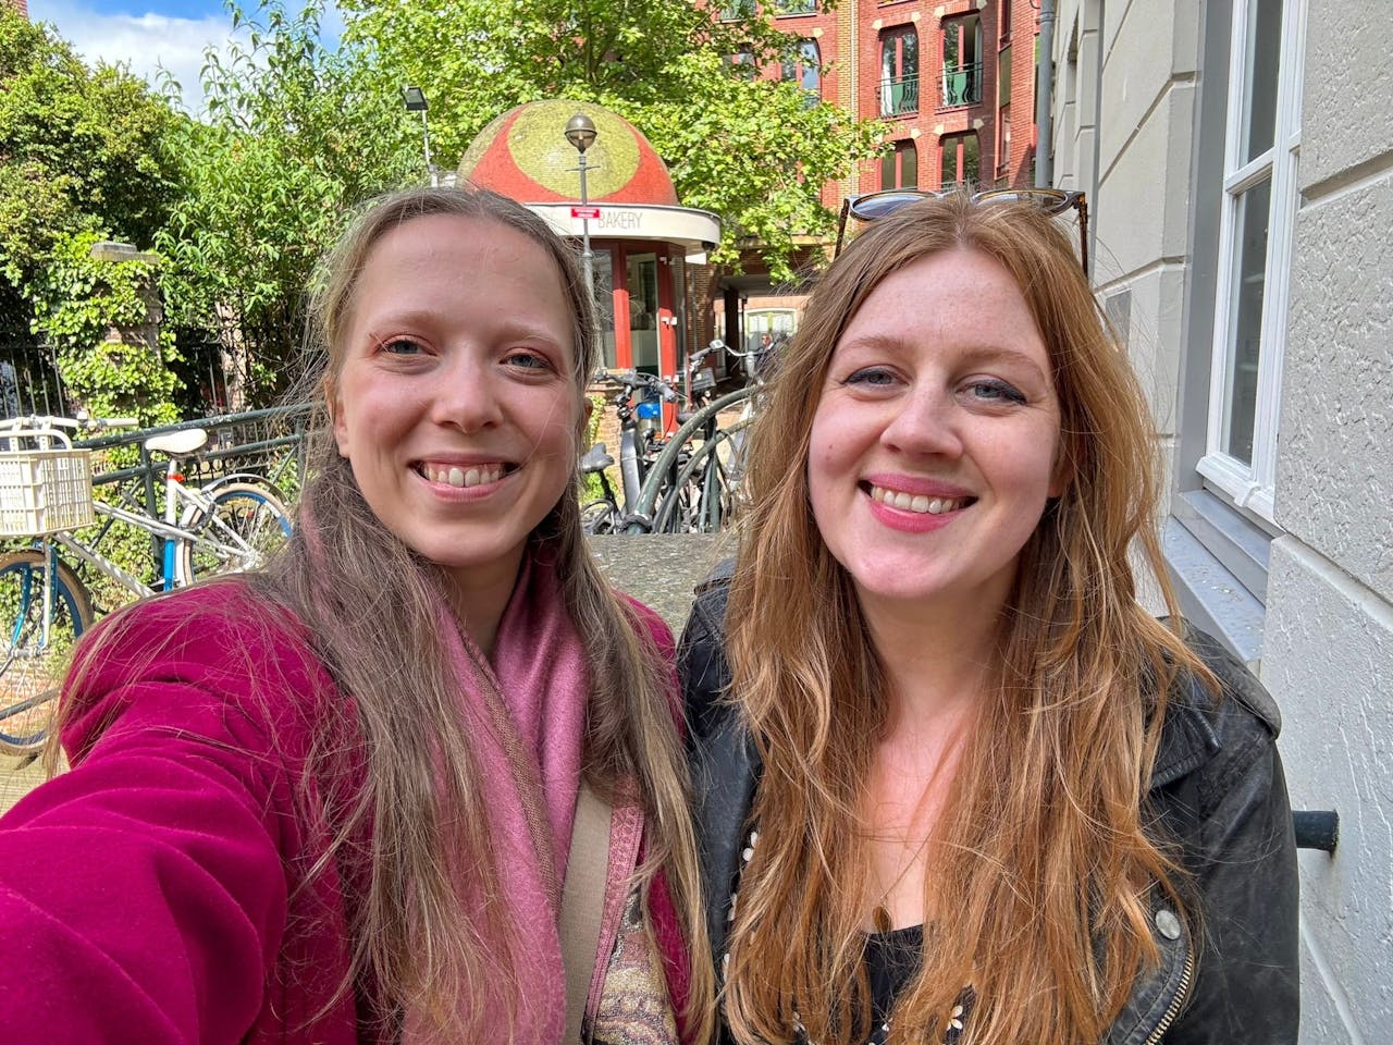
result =
[[[361,883],[333,864],[305,879],[329,840],[325,786],[351,791],[362,772],[352,761],[305,780],[304,759],[325,723],[357,751],[351,706],[301,627],[240,582],[156,599],[125,621],[74,695],[71,772],[0,819],[6,1039],[364,1039],[352,992],[316,1019],[348,967]],[[651,911],[680,1009],[688,964],[662,878]]]

